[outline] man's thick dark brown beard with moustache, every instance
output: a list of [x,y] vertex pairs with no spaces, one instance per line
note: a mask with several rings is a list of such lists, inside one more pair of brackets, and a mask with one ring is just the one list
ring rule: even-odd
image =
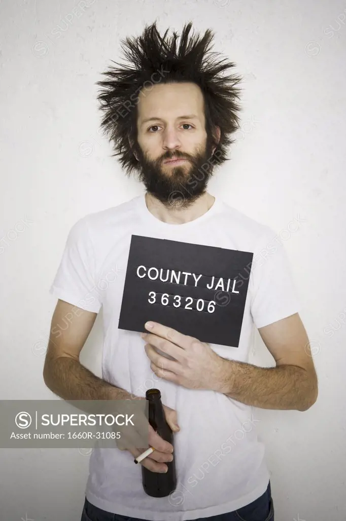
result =
[[[212,148],[215,144],[208,137],[204,150],[191,155],[180,151],[166,152],[158,159],[151,160],[137,145],[139,161],[138,177],[151,195],[164,205],[174,208],[187,208],[201,195],[205,194],[212,176]],[[163,162],[172,157],[187,159],[181,165],[166,165]],[[164,170],[165,169],[165,170]]]

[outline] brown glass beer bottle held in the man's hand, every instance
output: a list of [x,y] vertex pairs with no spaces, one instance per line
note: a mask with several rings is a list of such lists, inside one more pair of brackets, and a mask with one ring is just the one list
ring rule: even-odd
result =
[[[161,438],[174,446],[174,434],[167,424],[164,408],[161,401],[161,392],[158,389],[148,389],[145,399],[149,401],[149,423]],[[173,460],[165,462],[166,473],[152,472],[142,465],[143,489],[154,498],[164,498],[176,489],[176,464],[173,451]]]

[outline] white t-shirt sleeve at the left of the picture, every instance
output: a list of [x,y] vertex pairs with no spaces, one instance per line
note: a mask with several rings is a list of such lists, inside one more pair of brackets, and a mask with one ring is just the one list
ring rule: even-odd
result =
[[95,281],[95,256],[86,217],[71,228],[49,293],[86,311],[98,313],[100,294]]

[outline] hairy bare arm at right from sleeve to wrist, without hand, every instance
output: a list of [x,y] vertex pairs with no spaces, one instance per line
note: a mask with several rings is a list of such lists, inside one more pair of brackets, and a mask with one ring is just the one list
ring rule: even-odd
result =
[[307,332],[298,313],[258,329],[276,367],[223,358],[214,389],[247,405],[307,411],[317,399],[317,375]]

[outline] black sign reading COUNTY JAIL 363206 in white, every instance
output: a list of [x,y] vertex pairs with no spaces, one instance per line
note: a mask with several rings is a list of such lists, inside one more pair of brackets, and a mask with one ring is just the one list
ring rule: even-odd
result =
[[119,329],[145,322],[238,347],[253,253],[132,235]]

